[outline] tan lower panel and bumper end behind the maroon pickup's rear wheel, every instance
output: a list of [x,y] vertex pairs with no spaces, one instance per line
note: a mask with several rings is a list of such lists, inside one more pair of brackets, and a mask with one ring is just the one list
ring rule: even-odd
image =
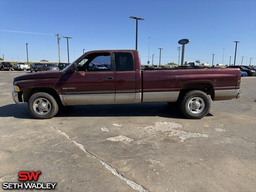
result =
[[214,101],[220,100],[230,100],[234,98],[240,98],[242,95],[242,91],[239,89],[232,90],[215,90]]

